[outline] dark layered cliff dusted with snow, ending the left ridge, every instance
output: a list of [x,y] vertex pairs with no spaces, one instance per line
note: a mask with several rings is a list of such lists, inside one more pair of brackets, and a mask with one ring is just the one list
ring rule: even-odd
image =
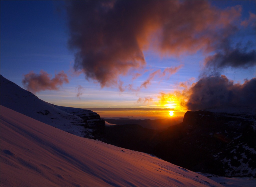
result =
[[53,105],[54,107],[68,112],[70,114],[74,114],[84,120],[84,126],[92,130],[92,135],[94,138],[96,136],[104,133],[105,129],[105,121],[100,118],[100,115],[91,110],[81,109],[81,108],[73,108],[73,107],[62,107]]

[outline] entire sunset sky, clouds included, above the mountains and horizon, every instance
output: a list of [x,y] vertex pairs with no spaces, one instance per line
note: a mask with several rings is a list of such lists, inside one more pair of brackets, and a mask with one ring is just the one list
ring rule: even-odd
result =
[[0,4],[1,75],[44,101],[156,116],[255,108],[255,1]]

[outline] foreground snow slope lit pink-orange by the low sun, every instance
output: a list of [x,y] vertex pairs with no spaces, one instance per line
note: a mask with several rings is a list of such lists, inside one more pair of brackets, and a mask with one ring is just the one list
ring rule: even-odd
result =
[[1,106],[1,186],[221,186],[151,155],[59,130]]

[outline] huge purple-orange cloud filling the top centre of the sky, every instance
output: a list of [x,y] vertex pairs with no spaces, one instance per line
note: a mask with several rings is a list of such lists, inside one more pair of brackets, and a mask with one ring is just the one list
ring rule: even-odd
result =
[[219,41],[237,30],[241,16],[240,6],[222,10],[208,1],[66,3],[74,69],[101,87],[120,88],[120,76],[141,73],[146,65],[143,51],[150,47],[159,55],[174,56],[214,51]]

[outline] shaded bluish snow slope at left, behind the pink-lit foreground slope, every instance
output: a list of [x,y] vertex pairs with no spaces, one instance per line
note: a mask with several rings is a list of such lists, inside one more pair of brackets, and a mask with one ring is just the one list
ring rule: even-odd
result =
[[1,75],[1,105],[71,134],[92,138],[84,120],[52,106]]

